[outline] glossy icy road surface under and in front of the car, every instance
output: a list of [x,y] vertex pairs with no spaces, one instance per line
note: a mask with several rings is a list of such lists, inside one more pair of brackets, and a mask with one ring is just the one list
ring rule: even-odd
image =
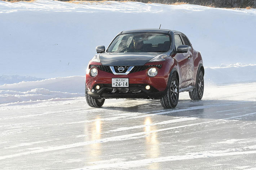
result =
[[219,100],[181,95],[169,110],[158,100],[95,109],[84,97],[2,105],[0,169],[256,169],[255,88],[240,87],[208,89]]

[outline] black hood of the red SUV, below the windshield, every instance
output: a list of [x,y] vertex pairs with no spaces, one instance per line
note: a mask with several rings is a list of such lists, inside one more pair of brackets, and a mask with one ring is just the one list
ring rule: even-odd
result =
[[153,59],[158,53],[149,52],[124,52],[124,53],[102,53],[100,60],[102,65],[109,66],[135,66],[144,65]]

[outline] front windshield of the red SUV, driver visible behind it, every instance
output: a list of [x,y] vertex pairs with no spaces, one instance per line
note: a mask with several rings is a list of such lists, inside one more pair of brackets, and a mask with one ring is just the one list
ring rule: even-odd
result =
[[128,33],[117,36],[107,52],[165,52],[171,36],[164,33]]

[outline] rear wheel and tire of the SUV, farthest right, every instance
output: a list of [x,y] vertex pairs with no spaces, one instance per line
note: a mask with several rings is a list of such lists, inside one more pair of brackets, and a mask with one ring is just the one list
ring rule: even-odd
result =
[[204,94],[204,74],[199,70],[197,82],[193,91],[189,92],[191,100],[201,100]]

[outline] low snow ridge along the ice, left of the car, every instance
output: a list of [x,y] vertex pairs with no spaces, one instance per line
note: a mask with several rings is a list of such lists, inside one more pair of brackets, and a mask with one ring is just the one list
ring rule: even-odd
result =
[[84,76],[57,77],[0,86],[0,104],[84,96]]

